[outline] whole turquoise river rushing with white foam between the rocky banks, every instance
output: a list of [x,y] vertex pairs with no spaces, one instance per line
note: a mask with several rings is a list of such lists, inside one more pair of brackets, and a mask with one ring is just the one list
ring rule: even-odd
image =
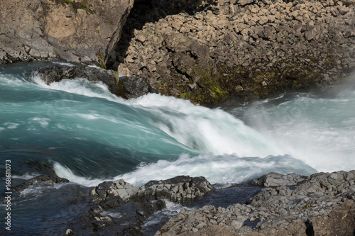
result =
[[[182,174],[229,184],[268,172],[355,169],[354,86],[210,109],[158,94],[125,101],[80,78],[48,86],[31,73],[53,63],[0,66],[1,176],[10,159],[13,185],[53,170],[80,188]],[[59,193],[31,191],[21,195],[17,213],[43,226],[38,206],[26,201]],[[42,210],[58,208],[43,199]],[[1,206],[1,218],[3,212]]]

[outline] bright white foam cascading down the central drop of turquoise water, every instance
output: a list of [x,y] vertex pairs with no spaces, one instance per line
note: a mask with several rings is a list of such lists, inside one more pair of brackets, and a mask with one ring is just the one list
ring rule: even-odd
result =
[[178,142],[200,152],[267,157],[285,152],[273,140],[220,109],[195,106],[189,101],[148,94],[129,101],[157,117],[153,125]]

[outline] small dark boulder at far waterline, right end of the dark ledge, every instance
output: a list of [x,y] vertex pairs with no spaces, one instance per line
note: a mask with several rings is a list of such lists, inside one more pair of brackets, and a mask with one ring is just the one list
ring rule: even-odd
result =
[[120,77],[116,94],[124,99],[136,99],[139,96],[154,92],[155,90],[148,84],[146,78]]

